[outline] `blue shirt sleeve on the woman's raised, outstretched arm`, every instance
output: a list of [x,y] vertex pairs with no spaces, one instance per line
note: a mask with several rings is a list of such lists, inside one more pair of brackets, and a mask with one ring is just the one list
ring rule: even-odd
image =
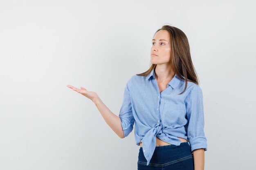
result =
[[119,117],[121,119],[121,126],[124,131],[124,137],[127,137],[130,134],[130,132],[132,132],[133,125],[135,122],[135,119],[132,114],[129,81],[126,83],[126,87],[124,89],[123,103],[119,112]]

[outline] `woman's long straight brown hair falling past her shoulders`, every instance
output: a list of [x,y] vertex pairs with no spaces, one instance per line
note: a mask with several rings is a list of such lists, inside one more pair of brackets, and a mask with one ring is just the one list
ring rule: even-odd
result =
[[[174,73],[185,81],[185,88],[182,91],[186,90],[187,82],[194,82],[198,84],[199,79],[196,74],[195,68],[193,66],[193,62],[191,60],[189,41],[186,37],[185,33],[180,29],[170,26],[164,25],[161,29],[158,29],[155,34],[160,30],[168,31],[170,35],[171,42],[171,60],[170,65],[173,68]],[[154,36],[155,36],[154,34]],[[136,75],[148,75],[153,69],[155,69],[156,64],[151,64],[150,68],[144,73],[136,74]],[[183,77],[184,78],[183,78]],[[198,84],[199,85],[199,84]],[[180,93],[180,94],[182,94]]]

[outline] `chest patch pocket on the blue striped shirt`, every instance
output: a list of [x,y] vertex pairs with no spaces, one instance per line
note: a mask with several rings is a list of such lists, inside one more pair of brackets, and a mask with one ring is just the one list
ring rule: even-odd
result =
[[183,126],[186,119],[186,106],[183,104],[174,104],[165,102],[164,109],[161,115],[162,123],[166,127],[176,128]]

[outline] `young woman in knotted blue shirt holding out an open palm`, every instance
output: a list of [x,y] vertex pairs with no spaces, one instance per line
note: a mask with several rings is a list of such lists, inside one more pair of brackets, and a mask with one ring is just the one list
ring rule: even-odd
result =
[[127,137],[135,124],[138,170],[204,170],[203,96],[188,39],[180,29],[164,25],[150,53],[150,68],[126,83],[119,116],[97,93],[67,87],[91,99],[119,137]]

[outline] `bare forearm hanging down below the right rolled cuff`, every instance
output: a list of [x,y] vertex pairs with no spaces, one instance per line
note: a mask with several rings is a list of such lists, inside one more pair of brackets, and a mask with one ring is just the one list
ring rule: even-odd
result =
[[194,169],[204,170],[204,148],[193,150]]

